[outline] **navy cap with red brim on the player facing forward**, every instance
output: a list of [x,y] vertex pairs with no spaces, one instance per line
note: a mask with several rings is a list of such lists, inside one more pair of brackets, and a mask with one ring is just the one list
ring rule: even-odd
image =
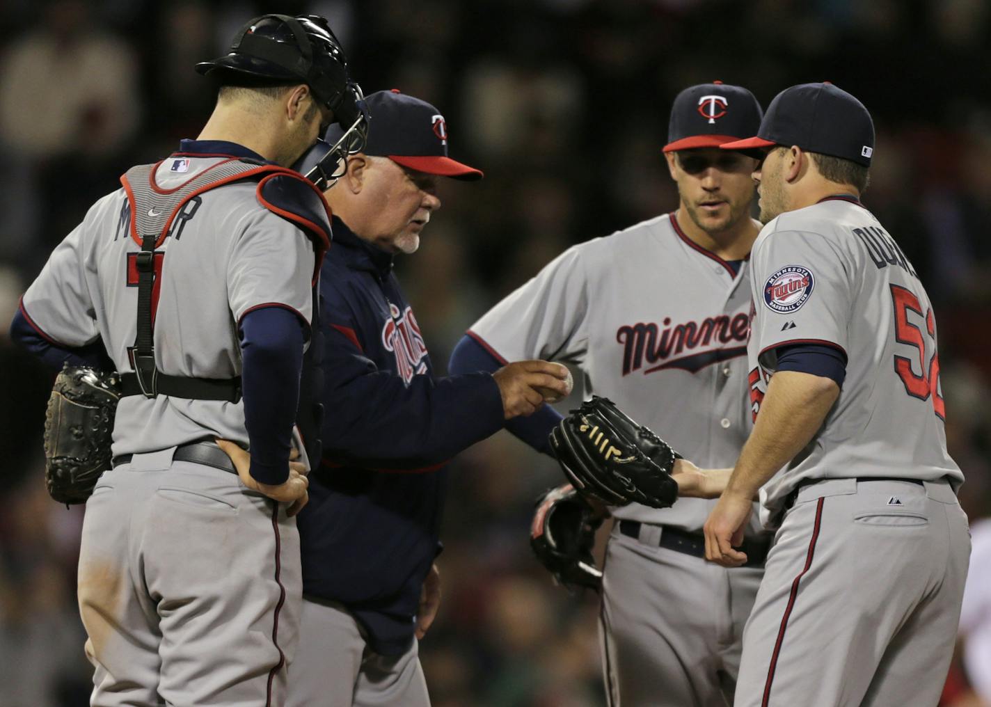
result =
[[722,81],[683,90],[671,106],[664,152],[716,148],[753,135],[764,112],[753,93]]

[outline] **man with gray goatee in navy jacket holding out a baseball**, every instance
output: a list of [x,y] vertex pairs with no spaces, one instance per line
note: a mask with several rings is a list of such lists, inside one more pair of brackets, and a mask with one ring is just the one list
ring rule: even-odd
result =
[[544,361],[433,377],[392,262],[419,247],[441,205],[438,177],[482,173],[447,156],[447,124],[429,103],[379,91],[366,104],[366,147],[326,192],[334,247],[320,284],[323,404],[333,414],[299,516],[304,598],[288,700],[299,707],[429,705],[417,639],[439,598],[441,467],[542,405],[537,388],[570,390],[567,370]]

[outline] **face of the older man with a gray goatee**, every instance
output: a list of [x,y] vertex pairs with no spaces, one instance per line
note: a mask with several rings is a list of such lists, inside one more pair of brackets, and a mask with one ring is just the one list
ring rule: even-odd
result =
[[389,253],[415,253],[420,232],[430,214],[440,208],[437,177],[396,165],[388,158],[373,158],[363,196],[375,204],[369,233],[363,234]]

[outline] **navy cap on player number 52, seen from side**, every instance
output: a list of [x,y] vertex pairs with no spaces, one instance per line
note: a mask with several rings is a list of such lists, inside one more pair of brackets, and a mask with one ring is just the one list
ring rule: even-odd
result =
[[803,150],[870,167],[874,121],[864,104],[828,81],[802,83],[774,97],[757,136],[720,145],[752,150],[798,145]]

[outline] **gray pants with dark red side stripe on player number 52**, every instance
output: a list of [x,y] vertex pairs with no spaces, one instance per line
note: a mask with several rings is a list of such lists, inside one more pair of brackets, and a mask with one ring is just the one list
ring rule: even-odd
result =
[[969,555],[945,481],[803,487],[743,634],[736,707],[934,707]]

